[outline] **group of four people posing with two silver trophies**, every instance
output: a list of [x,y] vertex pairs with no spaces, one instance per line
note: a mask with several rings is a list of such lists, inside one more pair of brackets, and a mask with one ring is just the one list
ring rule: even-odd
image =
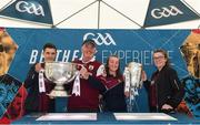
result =
[[[127,112],[124,80],[120,72],[120,59],[110,55],[106,65],[96,61],[97,45],[93,40],[86,40],[81,46],[82,56],[73,63],[82,65],[80,74],[80,95],[72,93],[74,82],[67,84],[66,90],[71,92],[68,98],[68,112]],[[51,43],[43,46],[44,62],[32,65],[24,81],[28,96],[24,103],[26,113],[47,113],[54,111],[54,97],[48,94],[54,87],[54,83],[41,80],[46,62],[53,62],[57,48]],[[153,61],[157,71],[151,80],[147,79],[142,71],[141,80],[149,93],[149,106],[151,112],[174,111],[181,102],[184,92],[178,79],[177,72],[170,66],[168,54],[163,50],[153,52]],[[41,82],[44,82],[44,91],[41,91]],[[103,103],[102,103],[103,102]],[[103,105],[103,106],[102,106]]]

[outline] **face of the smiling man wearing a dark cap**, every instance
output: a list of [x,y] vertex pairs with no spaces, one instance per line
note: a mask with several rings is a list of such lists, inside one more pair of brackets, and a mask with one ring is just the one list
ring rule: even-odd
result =
[[84,59],[92,59],[96,53],[96,48],[92,44],[82,45],[82,54]]

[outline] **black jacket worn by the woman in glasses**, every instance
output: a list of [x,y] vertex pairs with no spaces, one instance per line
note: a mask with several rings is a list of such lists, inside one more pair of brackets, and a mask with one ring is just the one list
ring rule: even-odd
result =
[[[157,71],[152,74],[151,80],[154,75],[158,75],[154,84],[159,110],[161,110],[163,104],[169,104],[176,108],[184,95],[183,85],[179,81],[177,72],[169,66],[163,66],[160,72]],[[150,81],[144,82],[144,87],[148,92],[150,91]]]

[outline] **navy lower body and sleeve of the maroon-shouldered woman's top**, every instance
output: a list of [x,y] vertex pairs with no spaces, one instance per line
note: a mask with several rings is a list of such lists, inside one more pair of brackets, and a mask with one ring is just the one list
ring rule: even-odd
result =
[[104,112],[127,112],[123,82],[118,83],[112,88],[107,88],[101,81],[89,76],[89,83],[102,93]]

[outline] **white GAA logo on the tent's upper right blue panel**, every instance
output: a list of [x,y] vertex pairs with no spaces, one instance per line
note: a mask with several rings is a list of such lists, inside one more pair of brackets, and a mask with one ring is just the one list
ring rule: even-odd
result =
[[161,8],[161,9],[153,9],[151,11],[151,15],[154,19],[161,19],[161,18],[169,18],[169,17],[174,17],[178,14],[183,14],[181,10],[179,10],[176,6],[169,6],[169,8]]

